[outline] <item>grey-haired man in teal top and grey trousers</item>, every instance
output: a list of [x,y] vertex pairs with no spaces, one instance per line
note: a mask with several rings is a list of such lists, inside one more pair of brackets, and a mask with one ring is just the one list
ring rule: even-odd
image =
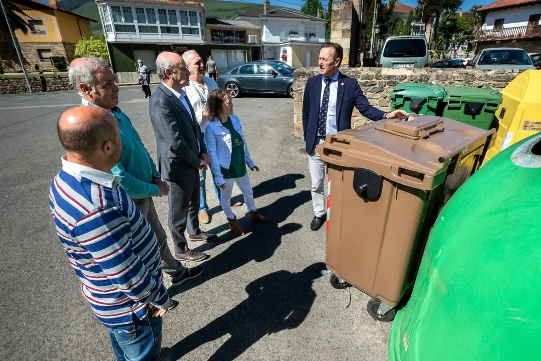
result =
[[152,197],[167,195],[169,186],[161,179],[154,161],[128,116],[117,107],[118,87],[109,65],[102,58],[77,58],[69,66],[69,78],[81,95],[83,106],[101,107],[110,111],[118,121],[122,154],[112,172],[120,176],[121,186],[154,229],[160,246],[163,272],[171,276],[173,286],[197,277],[203,272],[203,266],[185,268],[169,250],[167,234],[152,200]]

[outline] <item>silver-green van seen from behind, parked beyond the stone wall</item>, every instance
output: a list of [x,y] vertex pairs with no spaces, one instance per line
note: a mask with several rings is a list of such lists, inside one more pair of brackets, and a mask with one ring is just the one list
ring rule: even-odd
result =
[[428,43],[424,36],[390,36],[383,44],[378,67],[426,68]]

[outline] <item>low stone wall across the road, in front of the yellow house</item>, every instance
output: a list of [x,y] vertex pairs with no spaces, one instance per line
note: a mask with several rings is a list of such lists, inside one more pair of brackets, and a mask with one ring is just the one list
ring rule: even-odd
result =
[[[74,90],[67,76],[29,76],[32,93],[45,91]],[[0,77],[0,94],[28,93],[27,81],[24,77]]]

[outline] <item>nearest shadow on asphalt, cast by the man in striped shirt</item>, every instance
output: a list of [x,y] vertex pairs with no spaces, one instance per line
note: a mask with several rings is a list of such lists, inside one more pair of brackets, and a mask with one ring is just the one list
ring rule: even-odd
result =
[[197,347],[230,334],[209,360],[233,360],[263,336],[298,327],[312,308],[316,296],[312,283],[321,277],[322,270],[325,264],[318,262],[299,273],[282,270],[256,279],[246,286],[246,300],[176,343],[169,350],[170,359],[179,360]]

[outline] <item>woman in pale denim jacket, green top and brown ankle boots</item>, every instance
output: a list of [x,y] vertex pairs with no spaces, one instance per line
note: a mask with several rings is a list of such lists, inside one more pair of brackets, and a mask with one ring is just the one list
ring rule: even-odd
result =
[[227,216],[229,228],[232,232],[243,235],[244,231],[231,209],[233,183],[236,183],[244,196],[250,220],[268,222],[268,218],[260,215],[255,208],[252,185],[246,172],[246,165],[256,172],[259,172],[259,168],[250,159],[242,126],[239,118],[233,115],[233,102],[227,90],[210,91],[207,112],[209,122],[204,131],[204,142],[210,155],[210,169],[216,185],[222,189],[220,203]]

